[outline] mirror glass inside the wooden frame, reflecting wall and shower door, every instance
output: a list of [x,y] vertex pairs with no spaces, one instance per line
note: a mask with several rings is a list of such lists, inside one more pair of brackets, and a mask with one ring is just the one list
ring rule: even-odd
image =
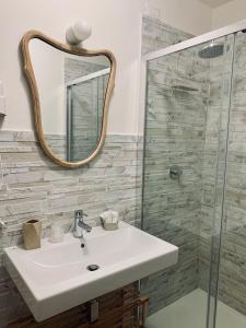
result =
[[102,133],[109,59],[70,55],[37,38],[30,52],[48,147],[67,162],[87,159]]

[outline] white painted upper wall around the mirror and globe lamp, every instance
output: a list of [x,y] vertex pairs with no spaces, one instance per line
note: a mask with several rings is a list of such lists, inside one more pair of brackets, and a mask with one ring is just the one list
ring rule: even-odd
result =
[[[32,130],[32,108],[17,60],[23,34],[40,30],[58,40],[77,19],[93,26],[89,48],[114,51],[118,67],[109,110],[108,133],[138,133],[141,16],[153,8],[167,24],[192,34],[210,30],[211,11],[197,0],[1,0],[0,79],[8,98],[3,129]],[[185,2],[185,3],[184,3]]]

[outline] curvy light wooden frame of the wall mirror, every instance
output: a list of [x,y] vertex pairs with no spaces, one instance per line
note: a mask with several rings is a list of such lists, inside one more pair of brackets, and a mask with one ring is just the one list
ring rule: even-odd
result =
[[[32,66],[30,48],[28,48],[30,42],[33,38],[40,39],[44,43],[52,46],[54,48],[61,50],[63,52],[67,52],[67,54],[78,55],[78,56],[86,56],[86,57],[106,56],[108,58],[108,60],[110,61],[112,67],[110,67],[110,74],[109,74],[106,93],[105,93],[105,98],[104,98],[101,138],[98,140],[96,149],[85,160],[74,162],[74,163],[61,160],[54,154],[54,152],[48,147],[48,144],[45,140],[45,134],[44,134],[43,125],[42,125],[39,94],[38,94],[38,89],[37,89],[37,82],[35,79],[35,73],[34,73],[33,66]],[[30,31],[23,36],[23,38],[21,40],[21,50],[22,50],[22,55],[23,55],[24,72],[25,72],[28,85],[31,87],[31,95],[32,95],[33,107],[34,107],[35,129],[36,129],[37,138],[38,138],[42,149],[44,150],[45,154],[49,159],[51,159],[56,164],[58,164],[60,166],[63,166],[67,168],[77,168],[77,167],[86,165],[98,154],[98,152],[101,151],[101,149],[103,148],[104,142],[105,142],[107,120],[108,120],[109,101],[110,101],[112,93],[113,93],[113,90],[115,86],[115,74],[116,74],[115,56],[109,50],[87,50],[87,49],[80,48],[77,46],[62,44],[60,42],[55,40],[51,37],[46,36],[45,34],[43,34],[42,32],[38,32],[38,31]]]

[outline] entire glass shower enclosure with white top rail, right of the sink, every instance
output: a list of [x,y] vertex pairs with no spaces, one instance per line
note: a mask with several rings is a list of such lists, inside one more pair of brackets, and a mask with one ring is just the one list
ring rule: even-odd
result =
[[245,28],[144,58],[141,224],[179,247],[141,282],[150,328],[246,327]]

